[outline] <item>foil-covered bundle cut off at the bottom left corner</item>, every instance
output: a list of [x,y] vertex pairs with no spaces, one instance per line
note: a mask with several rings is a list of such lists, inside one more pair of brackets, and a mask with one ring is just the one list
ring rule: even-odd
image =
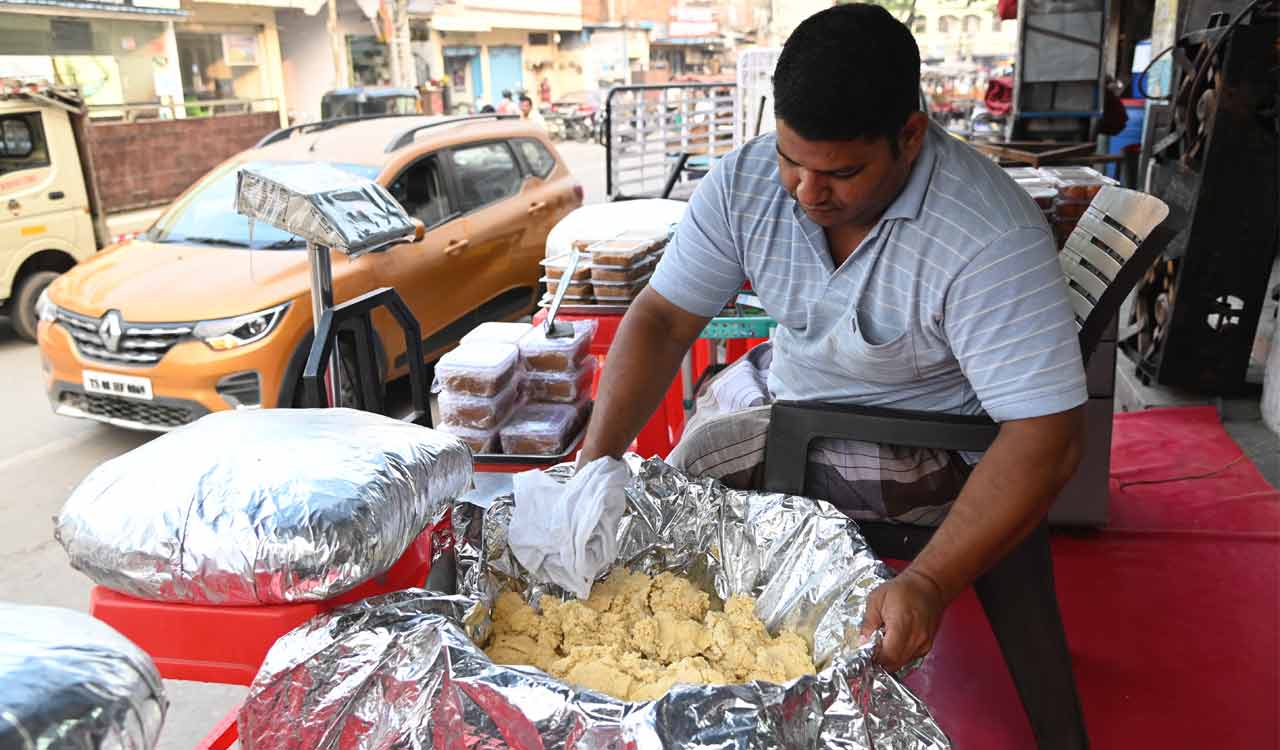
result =
[[0,747],[150,750],[168,708],[151,658],[105,623],[0,603]]

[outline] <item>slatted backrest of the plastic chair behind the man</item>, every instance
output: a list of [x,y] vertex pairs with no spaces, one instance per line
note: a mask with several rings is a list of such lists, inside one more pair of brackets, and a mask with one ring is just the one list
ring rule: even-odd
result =
[[1106,186],[1066,238],[1059,260],[1085,361],[1138,279],[1181,230],[1180,220],[1166,221],[1169,212],[1155,196]]

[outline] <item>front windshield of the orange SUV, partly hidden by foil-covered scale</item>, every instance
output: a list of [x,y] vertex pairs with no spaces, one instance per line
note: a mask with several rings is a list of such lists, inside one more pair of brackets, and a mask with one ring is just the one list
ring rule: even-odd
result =
[[[264,168],[280,161],[248,161],[232,164],[210,174],[189,195],[174,203],[147,233],[151,242],[186,242],[219,247],[252,250],[292,250],[306,243],[288,232],[264,221],[253,223],[250,241],[248,219],[236,212],[236,173],[241,169]],[[367,164],[330,163],[343,172],[374,179],[379,168]]]

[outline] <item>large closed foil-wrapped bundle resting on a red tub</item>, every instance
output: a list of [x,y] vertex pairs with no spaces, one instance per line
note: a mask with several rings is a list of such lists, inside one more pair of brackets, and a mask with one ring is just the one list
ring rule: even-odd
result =
[[72,493],[72,566],[134,596],[330,599],[387,572],[471,483],[456,438],[353,410],[219,412],[109,461]]

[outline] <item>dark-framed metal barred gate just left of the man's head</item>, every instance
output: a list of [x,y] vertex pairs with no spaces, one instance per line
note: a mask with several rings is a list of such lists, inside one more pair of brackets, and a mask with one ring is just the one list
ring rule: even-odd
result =
[[733,83],[616,86],[604,102],[605,191],[667,197],[733,148]]

